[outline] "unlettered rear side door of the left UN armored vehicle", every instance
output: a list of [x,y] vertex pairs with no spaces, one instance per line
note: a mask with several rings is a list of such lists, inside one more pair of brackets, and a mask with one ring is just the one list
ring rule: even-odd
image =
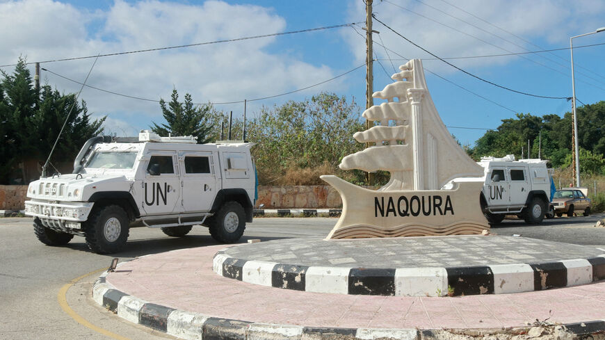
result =
[[179,165],[184,212],[209,211],[216,195],[212,152],[180,152]]

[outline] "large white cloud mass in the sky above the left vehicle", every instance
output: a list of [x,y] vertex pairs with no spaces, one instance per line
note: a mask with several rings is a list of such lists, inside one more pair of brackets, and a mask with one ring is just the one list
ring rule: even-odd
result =
[[[96,31],[87,28],[95,27]],[[241,38],[285,31],[285,19],[271,8],[206,1],[182,3],[116,0],[106,11],[83,10],[51,0],[0,3],[0,64],[94,56]],[[334,76],[324,65],[312,65],[284,52],[269,53],[277,38],[261,38],[186,49],[169,49],[99,58],[87,84],[113,92],[158,100],[170,99],[172,88],[191,93],[194,102],[231,102],[266,97],[303,88]],[[94,59],[42,64],[53,72],[83,81]],[[7,69],[10,72],[10,69]],[[42,72],[51,86],[77,92],[80,85]],[[332,90],[344,82],[331,83]],[[318,88],[314,88],[316,92]],[[146,129],[160,122],[159,104],[83,90],[89,112],[108,114],[106,127]],[[260,105],[258,103],[257,105]],[[243,108],[243,105],[241,105]],[[255,106],[248,106],[249,113]]]

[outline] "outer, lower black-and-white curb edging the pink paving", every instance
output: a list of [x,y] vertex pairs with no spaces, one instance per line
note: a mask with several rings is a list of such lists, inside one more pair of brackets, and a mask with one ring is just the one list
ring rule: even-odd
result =
[[[92,286],[92,298],[99,305],[131,323],[138,323],[154,330],[166,332],[181,339],[195,340],[252,340],[252,339],[355,339],[373,340],[379,338],[399,340],[444,339],[442,333],[456,330],[419,330],[417,328],[337,328],[304,327],[298,325],[278,325],[271,323],[252,323],[249,321],[216,318],[189,311],[180,311],[152,302],[140,300],[122,293],[105,280],[107,273],[101,275]],[[531,326],[528,326],[531,327]],[[557,325],[559,330],[577,336],[605,332],[605,320],[588,321]],[[522,334],[527,327],[508,330],[476,330],[481,334],[510,332]]]

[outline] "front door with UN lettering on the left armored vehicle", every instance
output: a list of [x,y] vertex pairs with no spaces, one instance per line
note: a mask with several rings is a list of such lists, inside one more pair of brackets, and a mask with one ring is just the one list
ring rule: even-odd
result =
[[176,152],[150,150],[147,158],[149,163],[143,180],[143,197],[140,197],[145,213],[162,215],[179,212],[181,183]]

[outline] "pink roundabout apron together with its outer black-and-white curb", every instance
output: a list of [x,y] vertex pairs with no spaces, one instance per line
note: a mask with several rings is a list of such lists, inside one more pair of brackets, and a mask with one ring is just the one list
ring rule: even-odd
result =
[[603,281],[455,298],[314,293],[221,277],[212,264],[223,249],[175,250],[124,262],[97,280],[93,298],[122,318],[184,339],[266,339],[267,334],[271,339],[335,339],[337,334],[429,339],[439,332],[605,331]]

